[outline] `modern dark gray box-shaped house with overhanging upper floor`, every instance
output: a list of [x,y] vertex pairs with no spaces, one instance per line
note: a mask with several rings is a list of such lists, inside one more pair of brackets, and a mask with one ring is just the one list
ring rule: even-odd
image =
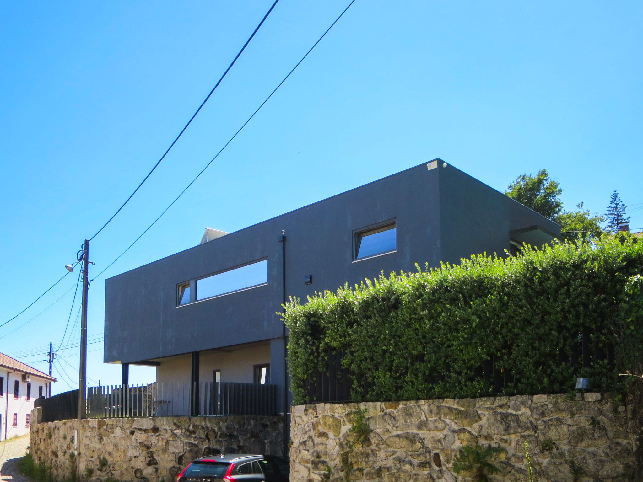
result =
[[435,159],[234,233],[209,229],[199,245],[109,278],[105,362],[123,364],[125,382],[128,364],[148,364],[159,389],[184,384],[159,395],[159,415],[203,412],[195,398],[203,405],[208,394],[190,382],[271,384],[276,411],[288,412],[288,340],[276,314],[284,299],[413,271],[415,263],[542,245],[559,233],[551,220]]

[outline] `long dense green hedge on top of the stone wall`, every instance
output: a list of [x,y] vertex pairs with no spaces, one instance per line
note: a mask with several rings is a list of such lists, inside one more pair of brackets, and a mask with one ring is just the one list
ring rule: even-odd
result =
[[[491,395],[482,366],[492,357],[511,374],[506,395],[567,392],[578,376],[614,389],[619,371],[642,353],[643,242],[604,238],[524,251],[382,274],[303,305],[291,299],[284,319],[294,403],[307,402],[307,381],[327,371],[329,350],[344,353],[356,400]],[[615,353],[611,362],[572,364],[583,332],[591,334],[590,353]]]

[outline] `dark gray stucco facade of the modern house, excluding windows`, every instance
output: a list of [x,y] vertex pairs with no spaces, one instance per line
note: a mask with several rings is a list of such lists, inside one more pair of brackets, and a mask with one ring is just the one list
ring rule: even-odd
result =
[[[354,233],[387,220],[395,220],[395,251],[354,260]],[[136,363],[265,341],[271,382],[282,385],[284,326],[276,312],[284,293],[305,299],[381,271],[414,271],[415,263],[500,254],[511,233],[520,241],[535,233],[538,242],[560,228],[440,159],[423,163],[109,278],[104,359]],[[266,284],[177,307],[179,284],[257,260],[268,262]]]

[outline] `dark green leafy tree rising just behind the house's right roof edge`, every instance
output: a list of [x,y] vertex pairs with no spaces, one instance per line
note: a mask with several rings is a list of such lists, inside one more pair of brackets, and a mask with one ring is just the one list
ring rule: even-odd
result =
[[550,179],[546,169],[539,170],[535,176],[519,175],[505,191],[512,199],[551,220],[556,219],[563,210],[563,201],[560,199],[562,193],[560,184]]

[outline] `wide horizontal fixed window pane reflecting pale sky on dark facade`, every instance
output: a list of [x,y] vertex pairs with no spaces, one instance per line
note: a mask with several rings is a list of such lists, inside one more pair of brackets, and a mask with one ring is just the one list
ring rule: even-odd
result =
[[268,260],[258,261],[197,280],[196,301],[265,285]]

